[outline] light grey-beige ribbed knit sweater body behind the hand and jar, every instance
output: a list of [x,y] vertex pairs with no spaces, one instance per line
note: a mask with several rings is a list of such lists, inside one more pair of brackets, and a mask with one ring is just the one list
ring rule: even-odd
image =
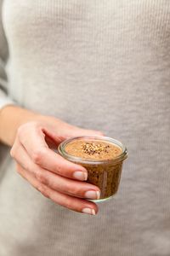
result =
[[44,198],[1,145],[0,255],[169,256],[170,1],[3,2],[1,107],[8,95],[99,129],[129,157],[115,198],[88,216]]

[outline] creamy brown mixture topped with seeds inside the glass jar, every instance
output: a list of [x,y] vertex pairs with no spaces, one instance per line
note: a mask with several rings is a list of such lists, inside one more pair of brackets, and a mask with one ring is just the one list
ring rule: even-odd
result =
[[80,158],[77,164],[88,170],[87,182],[101,190],[100,200],[116,194],[122,172],[122,160],[114,160],[122,154],[122,148],[105,140],[76,139],[65,145],[65,152]]

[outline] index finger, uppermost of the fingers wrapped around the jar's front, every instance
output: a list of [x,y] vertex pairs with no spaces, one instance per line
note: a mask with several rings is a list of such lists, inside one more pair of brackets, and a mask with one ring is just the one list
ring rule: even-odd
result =
[[88,171],[84,167],[65,160],[62,156],[48,148],[45,135],[41,130],[30,127],[29,135],[27,133],[28,131],[20,136],[20,143],[35,164],[63,177],[70,177],[81,181],[88,179]]

